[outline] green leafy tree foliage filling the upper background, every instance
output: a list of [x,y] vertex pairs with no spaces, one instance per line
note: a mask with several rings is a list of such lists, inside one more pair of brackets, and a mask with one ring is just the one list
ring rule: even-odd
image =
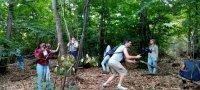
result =
[[[61,9],[63,6],[64,11]],[[150,38],[155,38],[163,51],[171,50],[179,36],[188,37],[189,29],[197,32],[199,45],[199,11],[200,3],[196,0],[90,0],[88,30],[84,41],[84,56],[99,56],[100,48],[100,17],[103,13],[105,28],[103,39],[114,47],[124,39],[131,39],[135,45],[140,45],[141,20],[140,15],[146,12],[146,23],[149,26]],[[84,0],[58,0],[58,11],[61,17],[63,33],[66,32],[64,19],[67,21],[71,35],[81,37],[83,28]],[[8,16],[8,0],[0,1],[0,56],[9,56],[15,48],[22,47],[25,54],[32,54],[40,41],[53,46],[56,42],[55,19],[52,12],[51,0],[17,0],[14,2],[14,19],[11,39],[5,39],[6,20]],[[63,34],[65,45],[68,42]],[[172,42],[173,41],[173,42]],[[148,46],[148,45],[146,45]],[[67,47],[67,46],[66,46]],[[92,47],[92,48],[91,48]],[[139,46],[137,46],[139,47]],[[180,47],[180,46],[177,46]],[[135,48],[135,51],[139,51]]]

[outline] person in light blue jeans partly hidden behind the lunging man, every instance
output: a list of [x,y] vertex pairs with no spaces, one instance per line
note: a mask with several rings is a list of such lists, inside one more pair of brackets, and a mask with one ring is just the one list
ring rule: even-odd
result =
[[103,74],[108,74],[109,73],[109,66],[108,66],[108,60],[110,59],[110,56],[107,54],[108,51],[111,50],[111,47],[110,47],[110,44],[109,42],[105,42],[105,51],[104,51],[104,54],[103,54],[103,61],[101,62],[101,66],[102,66],[102,69],[103,69]]

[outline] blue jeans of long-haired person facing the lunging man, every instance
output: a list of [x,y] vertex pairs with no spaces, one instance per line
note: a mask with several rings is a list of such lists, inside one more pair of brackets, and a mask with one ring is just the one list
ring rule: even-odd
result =
[[[148,64],[157,66],[157,60],[153,57],[148,57]],[[156,74],[156,68],[148,65],[149,74]]]

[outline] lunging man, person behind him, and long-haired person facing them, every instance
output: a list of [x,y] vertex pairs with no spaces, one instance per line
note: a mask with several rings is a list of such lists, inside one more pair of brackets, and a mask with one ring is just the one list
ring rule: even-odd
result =
[[[116,50],[112,55],[108,54],[111,51],[110,45],[107,43],[107,47],[104,52],[104,59],[101,62],[103,73],[108,74],[109,70],[112,75],[108,78],[106,82],[102,84],[102,88],[108,87],[108,83],[112,81],[115,77],[119,76],[119,82],[117,84],[117,89],[127,90],[126,87],[122,86],[124,77],[127,75],[127,70],[120,63],[123,59],[129,63],[135,63],[137,59],[141,58],[141,55],[132,56],[128,53],[128,48],[131,47],[132,42],[130,40],[125,40],[123,45],[115,47]],[[113,48],[114,49],[114,48]],[[149,49],[151,52],[148,53],[148,70],[149,74],[156,74],[156,68],[151,65],[157,65],[158,58],[158,46],[155,44],[155,40],[151,39],[149,44]]]

